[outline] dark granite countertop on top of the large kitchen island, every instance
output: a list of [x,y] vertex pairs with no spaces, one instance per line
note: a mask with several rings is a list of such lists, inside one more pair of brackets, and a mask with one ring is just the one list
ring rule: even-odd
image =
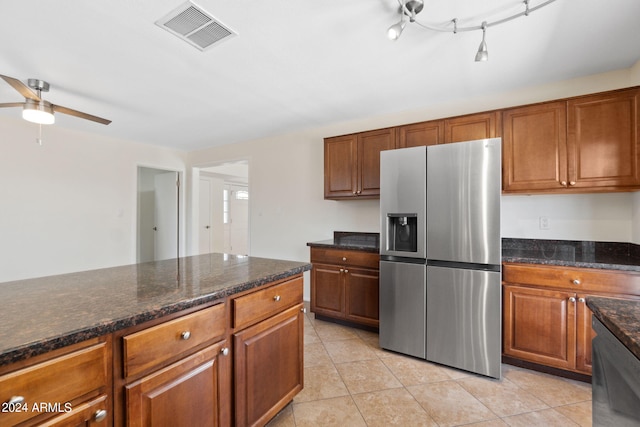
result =
[[0,366],[310,269],[206,254],[0,283]]

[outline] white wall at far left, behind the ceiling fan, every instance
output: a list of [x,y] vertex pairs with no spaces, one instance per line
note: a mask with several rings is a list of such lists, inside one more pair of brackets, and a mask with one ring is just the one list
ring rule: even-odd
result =
[[[113,124],[115,125],[115,124]],[[136,261],[137,167],[185,154],[0,117],[0,282]]]

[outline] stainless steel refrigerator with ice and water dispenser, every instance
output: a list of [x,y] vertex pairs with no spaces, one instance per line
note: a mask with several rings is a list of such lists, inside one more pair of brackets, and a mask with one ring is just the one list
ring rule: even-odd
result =
[[[424,190],[410,190],[416,182]],[[500,378],[501,140],[383,152],[380,185],[381,346]],[[424,213],[405,208],[423,193]],[[414,210],[425,252],[420,244],[392,250],[413,241],[406,227]]]

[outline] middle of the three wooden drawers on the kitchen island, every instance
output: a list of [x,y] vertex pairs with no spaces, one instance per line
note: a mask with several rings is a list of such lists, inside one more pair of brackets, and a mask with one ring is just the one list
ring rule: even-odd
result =
[[124,375],[161,365],[225,333],[225,305],[218,304],[124,336]]

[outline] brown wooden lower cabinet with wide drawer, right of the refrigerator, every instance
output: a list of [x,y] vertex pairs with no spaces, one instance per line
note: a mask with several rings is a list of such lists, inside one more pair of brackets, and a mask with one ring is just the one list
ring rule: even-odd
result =
[[505,264],[503,354],[591,375],[589,296],[639,299],[640,273]]

